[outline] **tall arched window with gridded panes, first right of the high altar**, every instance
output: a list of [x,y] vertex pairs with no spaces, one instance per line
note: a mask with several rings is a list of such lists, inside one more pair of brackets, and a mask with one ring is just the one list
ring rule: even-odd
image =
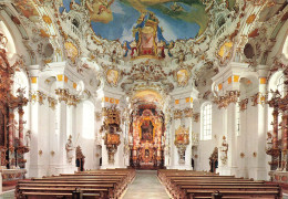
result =
[[212,139],[212,104],[202,107],[202,140]]

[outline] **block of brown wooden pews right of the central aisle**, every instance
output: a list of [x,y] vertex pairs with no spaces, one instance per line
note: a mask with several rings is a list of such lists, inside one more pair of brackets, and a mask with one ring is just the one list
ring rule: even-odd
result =
[[176,199],[281,198],[277,185],[197,171],[158,171],[160,179]]

